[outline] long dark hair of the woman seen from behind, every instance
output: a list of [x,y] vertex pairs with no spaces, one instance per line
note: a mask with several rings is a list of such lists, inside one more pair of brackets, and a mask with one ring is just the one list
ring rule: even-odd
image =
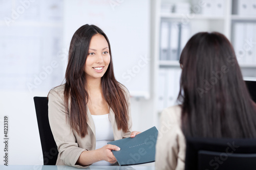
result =
[[181,57],[178,100],[185,136],[255,138],[256,107],[229,40],[220,33],[191,37]]

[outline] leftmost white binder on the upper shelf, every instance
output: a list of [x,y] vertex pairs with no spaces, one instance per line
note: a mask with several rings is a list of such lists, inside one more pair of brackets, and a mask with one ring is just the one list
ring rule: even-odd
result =
[[167,60],[169,46],[169,23],[161,22],[160,60]]

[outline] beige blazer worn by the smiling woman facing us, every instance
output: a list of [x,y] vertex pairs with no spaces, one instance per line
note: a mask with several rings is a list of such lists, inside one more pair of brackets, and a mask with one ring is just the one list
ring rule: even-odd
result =
[[[58,158],[56,165],[69,165],[75,167],[87,167],[76,165],[76,162],[83,151],[95,150],[95,126],[92,115],[87,108],[88,113],[88,135],[81,138],[70,126],[70,113],[65,112],[64,91],[65,85],[58,86],[49,92],[48,112],[49,123],[53,133],[54,140],[58,148]],[[129,107],[129,131],[123,133],[117,129],[115,114],[110,108],[110,122],[113,128],[114,140],[130,137],[132,132],[132,117],[130,108],[130,94],[124,87],[126,101]],[[68,114],[68,116],[66,116]]]

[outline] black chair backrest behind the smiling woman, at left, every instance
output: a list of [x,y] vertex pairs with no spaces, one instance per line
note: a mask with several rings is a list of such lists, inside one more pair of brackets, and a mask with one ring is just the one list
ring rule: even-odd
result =
[[47,97],[34,97],[34,103],[44,165],[55,165],[58,150],[49,124],[48,99]]

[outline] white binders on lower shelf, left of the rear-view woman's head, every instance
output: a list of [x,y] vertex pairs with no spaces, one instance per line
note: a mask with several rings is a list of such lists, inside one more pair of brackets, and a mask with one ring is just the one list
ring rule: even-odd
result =
[[159,68],[158,111],[177,104],[180,75],[180,68]]

